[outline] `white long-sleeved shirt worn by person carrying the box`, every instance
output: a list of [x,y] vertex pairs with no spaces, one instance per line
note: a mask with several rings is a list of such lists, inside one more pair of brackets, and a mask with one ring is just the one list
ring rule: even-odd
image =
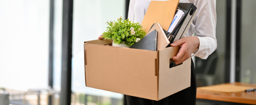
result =
[[[147,12],[151,0],[130,0],[128,19],[141,23]],[[166,1],[166,0],[157,0]],[[180,0],[193,3],[197,7],[197,14],[185,36],[192,36],[194,30],[199,39],[199,49],[193,56],[206,59],[217,48],[216,40],[216,0]]]

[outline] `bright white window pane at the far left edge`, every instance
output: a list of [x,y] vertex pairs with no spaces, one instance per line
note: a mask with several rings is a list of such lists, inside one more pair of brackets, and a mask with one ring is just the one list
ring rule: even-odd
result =
[[49,0],[0,0],[0,87],[48,88]]

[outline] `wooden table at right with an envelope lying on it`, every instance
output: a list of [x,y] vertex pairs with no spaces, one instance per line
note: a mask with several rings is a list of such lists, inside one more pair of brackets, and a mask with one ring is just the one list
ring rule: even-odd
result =
[[[245,84],[240,82],[225,83],[225,84],[256,87],[256,84]],[[197,89],[196,101],[206,102],[206,103],[215,103],[215,104],[225,104],[225,105],[256,105],[256,91],[239,92],[239,93],[223,93],[223,92],[213,92],[213,91]]]

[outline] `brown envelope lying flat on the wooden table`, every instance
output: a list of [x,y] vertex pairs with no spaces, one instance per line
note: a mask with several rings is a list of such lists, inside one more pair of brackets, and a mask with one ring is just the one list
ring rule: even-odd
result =
[[198,90],[207,90],[207,91],[216,91],[216,92],[225,92],[225,93],[244,92],[245,90],[251,89],[251,88],[255,88],[255,87],[232,85],[232,84],[197,87]]

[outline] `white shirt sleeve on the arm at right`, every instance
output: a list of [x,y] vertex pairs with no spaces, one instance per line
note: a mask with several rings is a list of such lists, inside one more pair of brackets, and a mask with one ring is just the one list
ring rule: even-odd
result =
[[192,27],[195,28],[200,45],[193,56],[206,59],[217,48],[216,0],[195,0],[194,5],[197,7],[197,14]]

